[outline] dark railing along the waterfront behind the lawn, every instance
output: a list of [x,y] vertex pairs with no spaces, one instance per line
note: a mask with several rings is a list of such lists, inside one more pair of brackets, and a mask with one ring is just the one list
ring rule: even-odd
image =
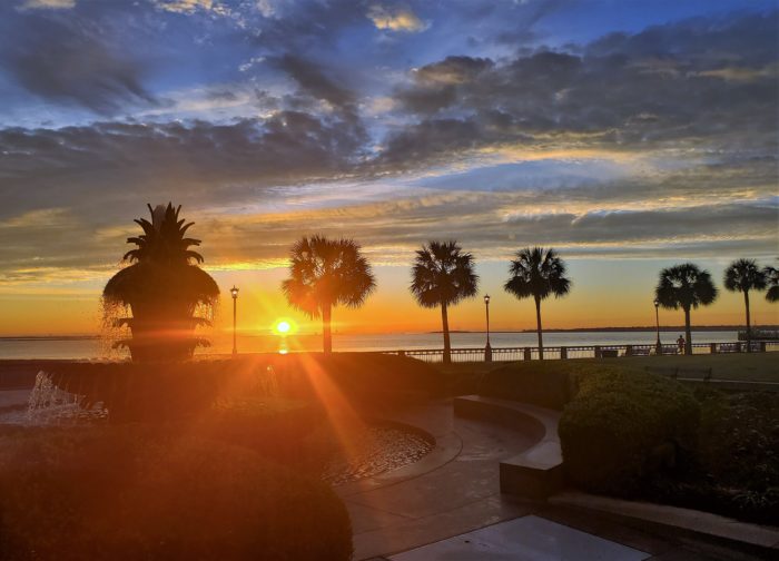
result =
[[[779,341],[753,341],[752,352],[770,353],[779,351]],[[729,354],[746,353],[747,343],[692,343],[692,354]],[[383,354],[408,356],[427,363],[440,363],[444,360],[443,348],[408,348],[400,351],[383,351]],[[565,358],[617,358],[622,356],[654,356],[684,354],[678,345],[662,345],[658,353],[655,345],[579,345],[544,347],[545,360]],[[492,347],[492,362],[538,361],[539,347]],[[457,347],[451,352],[453,363],[485,362],[484,347]]]

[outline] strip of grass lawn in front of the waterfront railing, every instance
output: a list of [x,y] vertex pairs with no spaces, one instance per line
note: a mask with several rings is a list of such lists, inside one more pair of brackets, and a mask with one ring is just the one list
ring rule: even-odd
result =
[[[546,361],[555,363],[559,361]],[[692,356],[629,356],[621,358],[572,358],[566,361],[575,370],[576,364],[593,365],[608,364],[621,365],[643,370],[644,367],[663,368],[711,368],[714,380],[737,380],[743,382],[777,382],[779,383],[779,353],[732,353],[718,355]],[[516,368],[538,368],[539,361],[516,363],[456,363],[450,365],[437,364],[436,367],[444,374],[452,376],[467,376],[483,374],[506,364],[513,364]]]

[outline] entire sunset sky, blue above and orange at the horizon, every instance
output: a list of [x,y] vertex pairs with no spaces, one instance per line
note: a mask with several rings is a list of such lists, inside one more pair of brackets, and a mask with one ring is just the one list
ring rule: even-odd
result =
[[[132,219],[168,201],[217,329],[235,284],[243,332],[317,331],[280,293],[317,233],[376,273],[342,333],[440,328],[407,289],[430,239],[474,255],[495,329],[534,327],[502,286],[535,245],[573,282],[548,327],[653,325],[663,267],[722,288],[734,258],[777,265],[778,30],[773,0],[4,0],[0,335],[97,332]],[[741,323],[742,298],[692,318]],[[481,298],[450,322],[482,329]]]

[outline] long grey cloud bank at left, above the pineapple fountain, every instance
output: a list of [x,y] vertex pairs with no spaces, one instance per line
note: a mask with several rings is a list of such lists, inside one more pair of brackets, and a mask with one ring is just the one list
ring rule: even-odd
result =
[[[0,218],[49,205],[110,220],[128,201],[243,200],[273,185],[346,176],[363,145],[353,122],[278,111],[227,125],[98,122],[0,130]],[[30,197],[31,191],[36,197]]]

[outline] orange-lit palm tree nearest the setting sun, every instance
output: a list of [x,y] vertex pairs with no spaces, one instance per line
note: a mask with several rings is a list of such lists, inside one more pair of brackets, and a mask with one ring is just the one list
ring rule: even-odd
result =
[[324,351],[333,351],[333,307],[359,307],[376,287],[371,265],[353,239],[315,235],[295,243],[289,255],[289,278],[282,289],[290,305],[309,317],[322,316]]

